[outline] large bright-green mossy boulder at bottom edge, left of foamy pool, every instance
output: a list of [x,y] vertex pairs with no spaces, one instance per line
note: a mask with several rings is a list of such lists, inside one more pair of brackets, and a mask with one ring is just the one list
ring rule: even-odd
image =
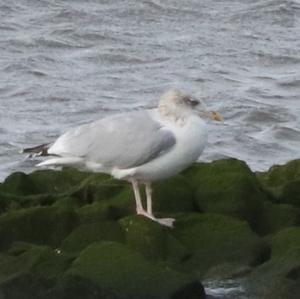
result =
[[90,245],[73,262],[67,275],[88,279],[124,299],[205,297],[202,285],[190,276],[150,263],[139,253],[114,242]]

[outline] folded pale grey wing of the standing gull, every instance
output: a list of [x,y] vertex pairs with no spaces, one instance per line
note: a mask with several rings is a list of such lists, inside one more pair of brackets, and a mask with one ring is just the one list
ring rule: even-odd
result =
[[174,134],[148,111],[135,111],[71,129],[56,140],[49,153],[125,169],[155,159],[175,143]]

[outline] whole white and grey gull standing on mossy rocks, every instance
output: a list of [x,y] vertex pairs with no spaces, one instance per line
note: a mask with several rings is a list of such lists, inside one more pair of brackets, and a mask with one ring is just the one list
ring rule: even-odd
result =
[[[207,144],[205,119],[220,121],[201,100],[178,90],[162,95],[155,109],[112,115],[68,130],[51,144],[25,149],[50,158],[37,166],[74,166],[131,182],[136,212],[172,227],[175,219],[152,212],[151,183],[194,163]],[[139,185],[145,185],[146,209]]]

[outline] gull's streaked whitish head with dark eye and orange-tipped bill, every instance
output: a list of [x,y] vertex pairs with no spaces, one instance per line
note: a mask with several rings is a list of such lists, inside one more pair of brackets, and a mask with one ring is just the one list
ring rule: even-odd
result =
[[191,115],[197,115],[203,119],[223,120],[219,113],[208,111],[203,101],[177,89],[171,89],[162,95],[158,110],[161,115],[175,120],[185,119]]

